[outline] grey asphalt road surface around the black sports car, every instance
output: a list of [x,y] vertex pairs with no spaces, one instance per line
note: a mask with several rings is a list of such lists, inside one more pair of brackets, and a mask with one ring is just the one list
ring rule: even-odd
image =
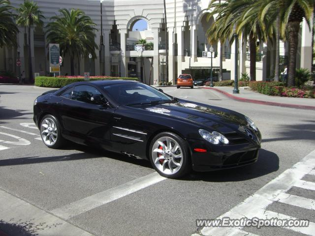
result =
[[[88,207],[66,217],[66,222],[96,236],[188,236],[197,230],[196,219],[213,219],[228,212],[315,149],[314,111],[237,102],[208,89],[162,89],[252,118],[263,137],[257,163],[219,172],[193,172],[180,180],[154,176],[156,182]],[[47,148],[32,124],[33,101],[46,90],[51,89],[0,85],[1,190],[59,217],[55,212],[64,206],[88,201],[90,196],[104,198],[111,191],[122,191],[130,181],[138,183],[141,177],[152,176],[155,171],[144,160],[75,144],[61,150]],[[305,179],[315,182],[313,175]],[[315,198],[315,191],[309,189],[292,187],[289,191]],[[314,209],[278,202],[269,208],[315,222]],[[0,220],[4,218],[0,212]],[[30,221],[32,218],[30,215]],[[14,233],[16,225],[3,222],[0,230],[18,235]],[[19,224],[22,227],[24,223]],[[303,235],[284,228],[246,231],[260,236]],[[36,233],[34,230],[29,235]]]

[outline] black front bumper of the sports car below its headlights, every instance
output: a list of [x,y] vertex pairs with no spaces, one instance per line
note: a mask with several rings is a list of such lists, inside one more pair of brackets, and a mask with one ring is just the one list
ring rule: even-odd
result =
[[[203,140],[188,140],[192,169],[194,171],[215,171],[230,169],[255,163],[258,158],[260,142],[240,145],[215,146]],[[196,152],[194,148],[206,149]]]

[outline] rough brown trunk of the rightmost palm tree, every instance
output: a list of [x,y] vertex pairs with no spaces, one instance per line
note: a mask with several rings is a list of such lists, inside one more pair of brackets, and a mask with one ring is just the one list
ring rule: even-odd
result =
[[287,86],[295,85],[296,54],[299,40],[300,22],[289,22],[286,27],[289,42],[289,62],[287,68]]

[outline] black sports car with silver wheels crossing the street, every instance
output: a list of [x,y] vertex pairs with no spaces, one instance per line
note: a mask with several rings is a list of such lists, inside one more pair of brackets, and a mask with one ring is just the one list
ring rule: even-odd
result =
[[164,177],[252,164],[261,143],[250,118],[133,81],[79,82],[34,101],[49,148],[64,139],[149,159]]

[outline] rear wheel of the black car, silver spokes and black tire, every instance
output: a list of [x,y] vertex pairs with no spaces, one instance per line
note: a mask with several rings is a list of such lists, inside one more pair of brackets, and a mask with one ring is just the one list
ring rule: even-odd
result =
[[61,135],[61,125],[54,116],[44,116],[40,121],[39,130],[41,139],[48,148],[57,149],[64,145],[65,142]]

